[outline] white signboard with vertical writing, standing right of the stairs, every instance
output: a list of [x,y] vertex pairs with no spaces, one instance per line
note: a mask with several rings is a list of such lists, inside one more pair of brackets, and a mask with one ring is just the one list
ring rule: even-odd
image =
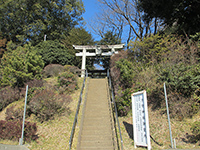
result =
[[133,93],[132,113],[133,113],[133,135],[134,146],[145,146],[151,149],[149,133],[149,117],[147,109],[146,91]]

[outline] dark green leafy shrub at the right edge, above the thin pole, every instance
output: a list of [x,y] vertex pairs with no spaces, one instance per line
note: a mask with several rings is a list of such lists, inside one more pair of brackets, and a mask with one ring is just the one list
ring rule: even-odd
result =
[[190,97],[198,88],[200,82],[200,65],[186,65],[183,63],[163,67],[160,70],[158,82],[166,82],[172,91]]

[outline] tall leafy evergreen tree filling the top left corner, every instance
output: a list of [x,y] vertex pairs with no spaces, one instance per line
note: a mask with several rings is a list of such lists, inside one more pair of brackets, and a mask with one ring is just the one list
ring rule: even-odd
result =
[[14,43],[36,45],[61,39],[82,20],[81,0],[1,0],[0,27],[3,37]]

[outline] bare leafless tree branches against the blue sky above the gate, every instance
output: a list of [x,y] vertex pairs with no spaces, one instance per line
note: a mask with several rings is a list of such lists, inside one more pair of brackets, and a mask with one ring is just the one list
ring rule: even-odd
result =
[[[127,43],[130,40],[142,40],[143,37],[154,33],[159,27],[158,19],[145,21],[144,12],[138,9],[139,0],[98,0],[103,6],[103,12],[96,16],[93,30],[100,36],[108,30],[124,34]],[[126,29],[126,31],[125,31]],[[125,32],[125,33],[124,33]]]

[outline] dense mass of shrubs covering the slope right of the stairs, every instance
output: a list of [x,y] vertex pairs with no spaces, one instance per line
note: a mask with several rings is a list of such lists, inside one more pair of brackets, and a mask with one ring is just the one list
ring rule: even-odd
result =
[[155,35],[131,42],[128,52],[111,57],[119,114],[127,114],[131,93],[139,90],[147,91],[153,109],[165,108],[165,82],[171,116],[180,120],[193,116],[200,105],[199,56],[198,43],[173,35]]

